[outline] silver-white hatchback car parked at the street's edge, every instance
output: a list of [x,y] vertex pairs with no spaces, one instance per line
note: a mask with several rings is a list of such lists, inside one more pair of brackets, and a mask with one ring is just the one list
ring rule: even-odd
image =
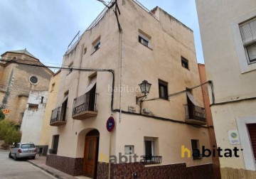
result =
[[36,158],[37,148],[33,143],[16,143],[14,147],[11,148],[9,153],[9,158]]

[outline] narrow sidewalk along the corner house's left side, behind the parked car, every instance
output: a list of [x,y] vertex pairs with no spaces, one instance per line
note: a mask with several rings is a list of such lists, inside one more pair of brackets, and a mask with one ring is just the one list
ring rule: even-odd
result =
[[73,177],[71,175],[68,175],[66,173],[61,172],[60,170],[57,170],[55,168],[52,168],[50,166],[46,166],[46,156],[36,156],[34,160],[28,160],[29,163],[31,163],[33,166],[36,166],[38,168],[41,168],[42,170],[45,170],[50,175],[53,175],[55,178],[60,179],[89,179],[85,176],[77,176]]

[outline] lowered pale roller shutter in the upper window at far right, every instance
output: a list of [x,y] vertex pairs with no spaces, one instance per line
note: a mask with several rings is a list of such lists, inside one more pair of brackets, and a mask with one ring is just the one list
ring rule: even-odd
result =
[[240,33],[244,44],[256,40],[256,18],[240,25]]

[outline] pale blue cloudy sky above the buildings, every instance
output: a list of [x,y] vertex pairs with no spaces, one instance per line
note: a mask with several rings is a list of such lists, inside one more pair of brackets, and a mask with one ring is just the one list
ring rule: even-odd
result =
[[[195,0],[139,2],[147,9],[159,6],[191,28],[198,63],[204,63]],[[0,0],[0,53],[26,48],[45,65],[61,65],[71,40],[104,7],[96,0]]]

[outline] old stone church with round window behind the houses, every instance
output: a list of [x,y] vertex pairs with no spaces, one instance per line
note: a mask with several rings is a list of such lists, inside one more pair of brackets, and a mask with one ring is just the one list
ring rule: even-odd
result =
[[6,118],[21,124],[31,90],[48,90],[53,72],[48,68],[20,65],[43,65],[28,50],[7,51],[0,61],[0,105],[8,110]]

